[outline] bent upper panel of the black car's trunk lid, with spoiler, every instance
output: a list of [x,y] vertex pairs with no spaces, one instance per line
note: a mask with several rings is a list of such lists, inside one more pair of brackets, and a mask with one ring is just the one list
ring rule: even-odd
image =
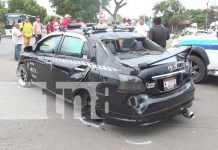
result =
[[181,46],[173,48],[170,52],[164,52],[160,55],[147,55],[143,57],[121,60],[122,64],[131,67],[147,67],[152,65],[166,64],[177,61],[176,55],[186,52],[191,49],[191,46]]

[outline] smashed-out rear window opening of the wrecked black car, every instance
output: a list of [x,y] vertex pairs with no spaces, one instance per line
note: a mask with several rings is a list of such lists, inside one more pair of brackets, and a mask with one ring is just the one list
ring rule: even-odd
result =
[[163,48],[145,38],[130,38],[102,41],[112,54],[121,60],[137,58],[150,54],[161,54]]

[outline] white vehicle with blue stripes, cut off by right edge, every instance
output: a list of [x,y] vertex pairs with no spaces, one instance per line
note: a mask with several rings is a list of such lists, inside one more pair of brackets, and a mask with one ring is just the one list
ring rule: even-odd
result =
[[[207,75],[218,76],[218,32],[216,34],[189,37],[179,41],[176,47],[184,45],[193,46],[190,60],[193,66],[195,83],[202,82]],[[209,59],[209,62],[207,59]]]

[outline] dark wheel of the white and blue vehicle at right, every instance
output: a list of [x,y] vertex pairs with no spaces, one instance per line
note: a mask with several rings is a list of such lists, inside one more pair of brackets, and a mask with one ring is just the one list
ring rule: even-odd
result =
[[192,64],[192,78],[194,83],[203,82],[207,76],[207,68],[201,58],[191,55],[189,61]]

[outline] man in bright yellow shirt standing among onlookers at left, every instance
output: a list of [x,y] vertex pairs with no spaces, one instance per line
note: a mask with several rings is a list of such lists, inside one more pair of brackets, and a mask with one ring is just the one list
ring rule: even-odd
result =
[[31,37],[33,36],[33,27],[29,22],[29,17],[26,17],[25,21],[20,26],[23,32],[24,46],[30,45]]

